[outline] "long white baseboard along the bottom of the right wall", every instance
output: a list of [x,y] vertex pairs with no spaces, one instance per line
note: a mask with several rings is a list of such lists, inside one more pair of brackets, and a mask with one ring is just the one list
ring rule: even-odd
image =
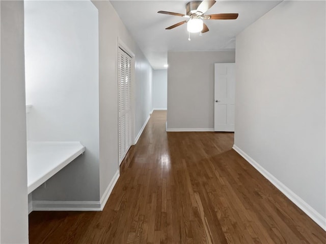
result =
[[270,174],[262,166],[258,164],[254,159],[252,159],[248,154],[243,152],[236,145],[233,145],[233,149],[239,153],[244,159],[246,159],[249,164],[251,164],[256,170],[259,171],[267,180],[276,186],[288,199],[290,199],[297,207],[303,210],[314,222],[317,223],[322,229],[326,231],[326,218],[324,218],[320,213],[318,213],[314,208],[312,208],[308,203],[306,203],[301,197],[293,193],[286,185],[279,181],[275,176]]

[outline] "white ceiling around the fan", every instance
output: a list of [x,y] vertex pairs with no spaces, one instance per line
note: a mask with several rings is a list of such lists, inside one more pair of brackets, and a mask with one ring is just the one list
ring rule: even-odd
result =
[[235,20],[204,20],[209,32],[191,34],[188,41],[186,24],[172,30],[168,26],[184,18],[158,14],[164,10],[185,14],[187,1],[111,1],[118,15],[142,49],[153,69],[164,69],[168,51],[211,51],[235,48],[235,37],[251,23],[282,1],[217,0],[206,14],[239,13]]

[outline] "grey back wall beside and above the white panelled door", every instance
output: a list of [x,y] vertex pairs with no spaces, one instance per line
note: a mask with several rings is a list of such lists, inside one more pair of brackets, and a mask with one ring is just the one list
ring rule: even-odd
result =
[[234,51],[168,52],[168,130],[213,130],[214,63],[234,61]]

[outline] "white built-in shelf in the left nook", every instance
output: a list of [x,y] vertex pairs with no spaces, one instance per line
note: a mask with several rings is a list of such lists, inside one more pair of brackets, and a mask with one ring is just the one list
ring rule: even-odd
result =
[[84,152],[80,142],[27,142],[28,193]]

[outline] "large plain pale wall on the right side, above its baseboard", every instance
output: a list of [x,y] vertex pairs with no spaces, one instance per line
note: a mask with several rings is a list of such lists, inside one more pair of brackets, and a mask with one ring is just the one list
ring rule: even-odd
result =
[[284,1],[240,33],[235,101],[235,146],[324,228],[325,27],[325,2]]

